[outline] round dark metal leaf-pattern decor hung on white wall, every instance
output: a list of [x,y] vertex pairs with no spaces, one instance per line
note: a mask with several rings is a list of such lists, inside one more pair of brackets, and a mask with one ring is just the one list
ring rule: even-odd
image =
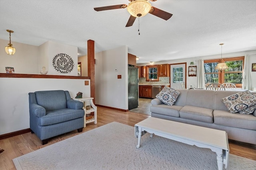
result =
[[60,73],[70,73],[74,68],[74,61],[67,54],[57,54],[53,60],[52,65]]

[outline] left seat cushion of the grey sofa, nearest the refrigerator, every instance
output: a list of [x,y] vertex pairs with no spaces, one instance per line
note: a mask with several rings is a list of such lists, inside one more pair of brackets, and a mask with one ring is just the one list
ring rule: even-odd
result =
[[159,113],[161,115],[168,115],[174,117],[180,117],[179,111],[183,106],[169,106],[166,104],[153,105],[150,106],[150,111],[152,113]]

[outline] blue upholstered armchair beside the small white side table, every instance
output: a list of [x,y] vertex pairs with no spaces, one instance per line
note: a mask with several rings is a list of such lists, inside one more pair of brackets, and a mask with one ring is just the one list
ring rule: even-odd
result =
[[31,133],[42,145],[49,138],[78,130],[83,131],[83,103],[72,100],[68,91],[50,90],[28,93]]

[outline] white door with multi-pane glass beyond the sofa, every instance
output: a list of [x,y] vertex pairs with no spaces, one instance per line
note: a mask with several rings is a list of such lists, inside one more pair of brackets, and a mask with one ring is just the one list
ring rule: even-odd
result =
[[182,83],[184,83],[186,88],[187,63],[177,63],[170,65],[170,87],[173,89],[183,89]]

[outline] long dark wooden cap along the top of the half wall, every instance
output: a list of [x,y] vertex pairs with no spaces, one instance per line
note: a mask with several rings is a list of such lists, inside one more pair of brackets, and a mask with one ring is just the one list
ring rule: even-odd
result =
[[59,75],[42,75],[42,74],[10,74],[0,73],[0,77],[4,78],[62,78],[62,79],[90,79],[90,77],[80,76],[59,76]]

